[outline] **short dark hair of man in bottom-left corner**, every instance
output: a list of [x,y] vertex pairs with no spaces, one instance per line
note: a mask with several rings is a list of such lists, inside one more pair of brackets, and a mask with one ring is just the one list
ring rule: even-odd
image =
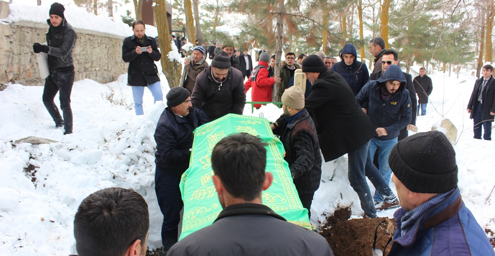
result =
[[146,241],[148,205],[134,190],[106,188],[81,202],[74,217],[80,256],[122,256],[136,240]]

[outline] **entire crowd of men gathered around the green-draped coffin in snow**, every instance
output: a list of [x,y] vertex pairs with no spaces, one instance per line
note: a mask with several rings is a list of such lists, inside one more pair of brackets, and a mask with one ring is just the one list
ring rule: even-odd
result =
[[[48,54],[50,74],[43,101],[55,126],[63,126],[64,134],[70,134],[72,51],[77,37],[65,20],[63,5],[53,3],[49,17],[48,45],[35,43],[33,50]],[[143,21],[133,22],[132,29],[134,35],[123,42],[122,59],[129,62],[128,84],[136,114],[141,115],[144,87],[155,101],[163,100],[154,65],[161,54],[156,41],[146,35]],[[205,61],[206,53],[211,65]],[[154,134],[163,251],[171,256],[333,255],[322,236],[287,222],[262,204],[261,192],[273,181],[273,175],[265,172],[266,145],[245,133],[223,138],[212,152],[212,181],[222,212],[212,225],[178,242],[183,207],[179,183],[189,166],[194,129],[228,113],[242,114],[249,88],[253,101],[271,101],[271,87],[280,83],[283,114],[271,128],[284,145],[284,159],[309,216],[322,160],[347,154],[348,180],[359,197],[363,217],[376,218],[377,211],[401,206],[394,214],[396,230],[389,255],[495,255],[462,202],[455,152],[446,136],[437,131],[407,137],[407,130],[415,128],[419,110],[426,114],[433,89],[426,70],[421,68],[414,79],[402,72],[398,53],[385,49],[379,37],[370,41],[370,53],[375,56],[371,74],[357,60],[355,47],[347,44],[339,54],[341,61],[324,52],[307,56],[288,52],[280,74],[274,75],[275,56],[267,52],[260,52],[253,66],[248,51],[241,55],[232,42],[213,43],[207,50],[205,45],[195,47],[184,59],[181,86],[166,95],[167,107]],[[295,86],[297,69],[302,69],[303,83],[309,86]],[[483,138],[491,139],[492,75],[493,67],[484,66],[467,107],[476,139],[481,139],[482,127]],[[53,103],[57,92],[63,119]],[[373,164],[375,152],[378,168]],[[374,197],[366,177],[376,189]],[[398,199],[389,187],[390,180]],[[122,188],[103,189],[78,208],[76,248],[81,256],[145,255],[148,228],[148,205],[141,195]]]

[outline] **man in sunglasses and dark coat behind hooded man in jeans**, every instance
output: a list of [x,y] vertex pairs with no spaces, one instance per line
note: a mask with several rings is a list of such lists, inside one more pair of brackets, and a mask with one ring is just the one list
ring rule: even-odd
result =
[[[370,75],[370,81],[371,80],[378,80],[380,77],[382,77],[383,73],[385,70],[390,65],[398,65],[399,64],[399,59],[398,59],[398,54],[394,50],[385,50],[382,55],[382,70],[377,71],[374,73],[371,73]],[[407,137],[407,131],[411,129],[415,129],[416,127],[416,110],[417,110],[417,98],[416,98],[416,90],[414,89],[414,84],[412,82],[412,76],[410,74],[407,74],[406,72],[402,72],[404,74],[405,80],[406,80],[406,85],[405,89],[409,91],[409,98],[411,99],[411,109],[412,109],[412,117],[411,117],[411,123],[407,125],[404,129],[400,130],[400,134],[397,137],[397,141],[403,140],[404,138]]]

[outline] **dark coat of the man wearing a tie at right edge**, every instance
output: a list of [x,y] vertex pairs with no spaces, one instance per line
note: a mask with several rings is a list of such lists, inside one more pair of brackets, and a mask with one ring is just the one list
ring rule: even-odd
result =
[[[481,85],[483,83],[484,78],[476,80],[474,83],[473,93],[471,94],[471,98],[469,99],[469,103],[467,104],[467,109],[474,110],[476,106],[478,106],[478,96],[480,95]],[[490,77],[487,85],[485,85],[485,92],[482,95],[483,102],[483,121],[493,121],[494,116],[490,114],[490,112],[495,113],[495,80],[493,77]],[[471,115],[469,118],[473,119],[474,111],[471,111]]]

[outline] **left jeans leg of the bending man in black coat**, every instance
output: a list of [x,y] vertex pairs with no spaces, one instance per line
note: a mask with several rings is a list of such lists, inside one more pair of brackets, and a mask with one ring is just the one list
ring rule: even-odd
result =
[[361,208],[364,214],[370,217],[376,217],[376,209],[371,198],[371,191],[366,182],[365,165],[368,158],[369,142],[358,147],[354,151],[347,153],[348,158],[348,173],[350,186],[357,193]]

